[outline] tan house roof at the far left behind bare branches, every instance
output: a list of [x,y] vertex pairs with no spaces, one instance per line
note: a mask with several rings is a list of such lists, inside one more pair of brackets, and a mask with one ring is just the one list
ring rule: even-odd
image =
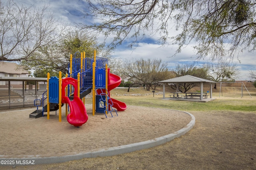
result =
[[28,71],[24,70],[22,66],[11,62],[0,62],[0,72],[7,74],[28,74]]

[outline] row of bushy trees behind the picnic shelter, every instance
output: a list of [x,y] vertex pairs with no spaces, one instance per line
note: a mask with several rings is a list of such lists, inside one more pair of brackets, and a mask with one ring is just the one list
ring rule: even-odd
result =
[[[215,82],[227,82],[236,78],[239,74],[235,64],[218,61],[216,63],[204,64],[196,66],[192,64],[178,64],[173,69],[168,69],[168,63],[164,63],[161,59],[132,59],[122,64],[122,75],[128,78],[130,86],[143,85],[146,90],[156,89],[161,80],[167,80],[174,77],[191,75],[199,78],[212,80]],[[179,83],[180,89],[187,92],[191,88],[198,86],[196,83]],[[176,90],[176,84],[169,84],[170,88]],[[128,91],[129,91],[128,88]],[[216,84],[214,86],[216,88]]]

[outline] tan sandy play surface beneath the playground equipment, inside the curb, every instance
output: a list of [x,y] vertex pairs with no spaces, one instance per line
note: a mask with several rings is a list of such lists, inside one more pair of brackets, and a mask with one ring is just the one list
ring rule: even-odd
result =
[[35,109],[0,111],[0,158],[64,156],[97,149],[117,147],[147,141],[185,127],[191,120],[182,111],[152,107],[128,106],[118,116],[92,116],[92,105],[85,105],[88,121],[77,128],[70,125],[62,107],[62,122],[58,111],[37,119],[29,118]]

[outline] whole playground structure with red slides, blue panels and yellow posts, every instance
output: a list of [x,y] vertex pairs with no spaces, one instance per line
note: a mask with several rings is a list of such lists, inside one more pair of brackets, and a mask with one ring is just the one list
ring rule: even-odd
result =
[[[80,53],[80,58],[74,58],[70,55],[68,73],[62,78],[59,72],[59,78],[51,77],[47,74],[47,90],[42,95],[42,110],[37,109],[30,114],[30,117],[43,117],[47,111],[47,119],[50,119],[50,111],[59,110],[59,121],[61,122],[61,107],[66,104],[66,117],[68,123],[79,127],[86,123],[88,115],[84,106],[85,96],[92,92],[92,115],[95,112],[104,113],[106,118],[113,117],[113,113],[118,116],[117,111],[124,111],[126,104],[124,102],[110,98],[110,91],[121,83],[120,76],[110,73],[108,68],[108,59],[96,57],[86,58],[85,52]],[[47,96],[45,97],[45,95]],[[47,105],[45,101],[47,100]],[[38,102],[38,101],[37,101]],[[113,109],[113,107],[115,109]],[[70,114],[68,114],[70,109]]]

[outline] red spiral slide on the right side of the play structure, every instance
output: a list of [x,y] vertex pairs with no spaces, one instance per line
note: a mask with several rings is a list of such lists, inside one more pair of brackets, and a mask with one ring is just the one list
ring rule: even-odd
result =
[[[114,88],[116,88],[117,86],[119,86],[119,84],[122,81],[122,78],[116,74],[112,74],[109,72],[108,69],[108,92],[110,93],[110,90],[113,90]],[[127,106],[124,102],[121,102],[119,100],[113,99],[111,98],[112,102],[113,102],[113,107],[116,108],[118,111],[124,111]]]

